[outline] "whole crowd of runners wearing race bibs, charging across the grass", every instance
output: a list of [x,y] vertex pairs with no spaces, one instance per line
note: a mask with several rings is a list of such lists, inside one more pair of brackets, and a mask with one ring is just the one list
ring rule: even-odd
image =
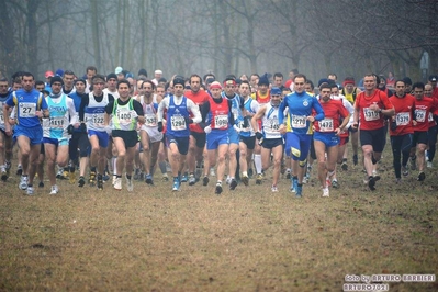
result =
[[362,90],[352,77],[338,85],[334,74],[315,90],[296,70],[288,80],[280,72],[167,80],[160,70],[148,79],[145,69],[134,78],[121,67],[103,76],[89,66],[83,77],[59,69],[45,78],[0,79],[1,180],[8,183],[18,147],[19,188],[29,195],[34,184],[44,188],[45,169],[50,194],[61,179],[99,190],[112,181],[127,191],[134,180],[153,186],[160,179],[179,191],[182,182],[207,186],[213,177],[221,194],[225,183],[232,191],[261,184],[272,167],[271,191],[279,191],[283,173],[301,198],[315,164],[323,196],[340,187],[338,166],[363,169],[373,191],[388,133],[395,183],[409,171],[420,183],[433,169],[437,76],[427,83],[393,80],[390,89],[384,77],[369,74]]

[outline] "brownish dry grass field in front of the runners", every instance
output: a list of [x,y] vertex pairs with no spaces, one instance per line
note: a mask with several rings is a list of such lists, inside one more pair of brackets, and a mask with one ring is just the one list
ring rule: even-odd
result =
[[[389,148],[389,147],[386,147]],[[60,181],[26,196],[1,184],[1,291],[341,291],[347,274],[438,273],[437,170],[393,184],[392,157],[371,192],[361,168],[339,172],[322,198],[313,170],[303,199],[282,179],[239,184],[156,186],[134,192]],[[13,169],[14,170],[14,169]],[[438,282],[390,283],[438,291]]]

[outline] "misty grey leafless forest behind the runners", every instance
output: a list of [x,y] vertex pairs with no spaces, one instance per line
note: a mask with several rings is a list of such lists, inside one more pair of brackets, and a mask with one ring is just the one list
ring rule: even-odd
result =
[[[438,72],[435,0],[0,0],[0,75]],[[427,71],[420,70],[424,52]]]

